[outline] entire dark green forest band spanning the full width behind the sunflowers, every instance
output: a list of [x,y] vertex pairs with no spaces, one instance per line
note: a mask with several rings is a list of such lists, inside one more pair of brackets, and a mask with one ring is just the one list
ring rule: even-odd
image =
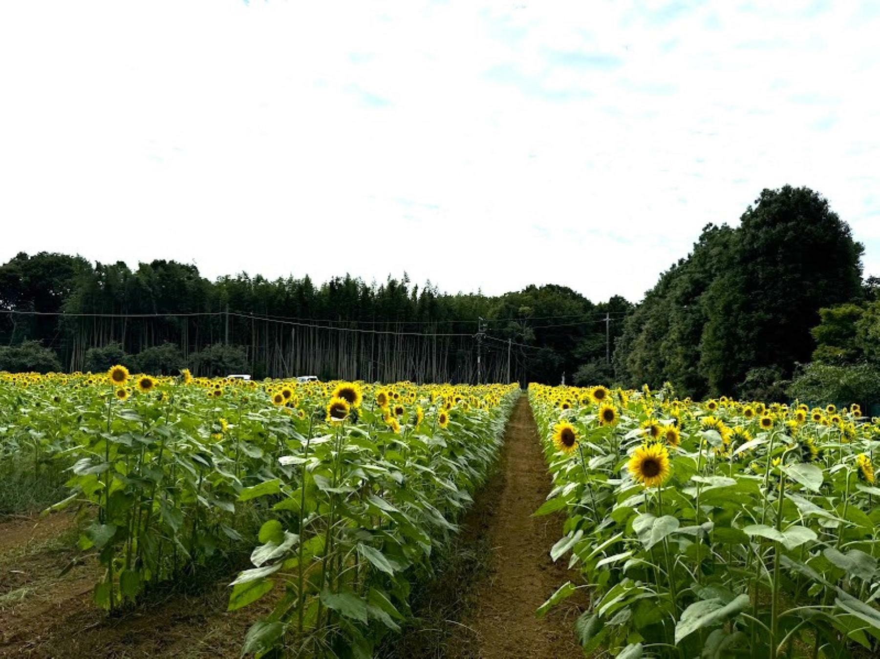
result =
[[[620,296],[594,303],[564,286],[488,296],[441,293],[406,275],[380,284],[245,273],[209,281],[173,261],[131,270],[18,254],[0,266],[0,369],[97,371],[123,361],[154,373],[188,366],[256,377],[564,377],[669,381],[698,398],[870,402],[880,302],[876,280],[862,281],[862,251],[827,200],[785,186],[761,192],[735,228],[708,224],[637,305]],[[841,388],[847,378],[857,384]]]

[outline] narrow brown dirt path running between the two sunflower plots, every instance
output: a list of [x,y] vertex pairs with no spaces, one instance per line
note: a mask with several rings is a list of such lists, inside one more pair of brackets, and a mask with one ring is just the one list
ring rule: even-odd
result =
[[473,629],[481,659],[583,656],[574,633],[576,600],[544,619],[535,616],[546,598],[573,578],[564,561],[554,563],[549,556],[560,538],[562,519],[531,517],[551,487],[537,432],[523,395],[508,423],[497,489],[481,494],[494,500],[480,517],[479,529],[492,547],[492,569],[464,621]]

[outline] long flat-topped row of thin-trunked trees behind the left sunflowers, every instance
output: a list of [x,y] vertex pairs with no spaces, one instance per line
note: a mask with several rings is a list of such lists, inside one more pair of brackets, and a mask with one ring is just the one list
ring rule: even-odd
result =
[[[119,358],[153,373],[549,382],[603,364],[631,308],[564,286],[487,296],[440,293],[406,276],[212,282],[173,261],[131,270],[18,254],[0,266],[0,370],[99,370]],[[615,319],[607,333],[596,322],[605,312]]]

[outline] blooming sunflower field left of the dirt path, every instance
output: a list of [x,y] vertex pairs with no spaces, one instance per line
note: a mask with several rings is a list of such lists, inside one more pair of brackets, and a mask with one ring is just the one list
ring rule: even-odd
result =
[[231,611],[266,598],[242,640],[266,655],[370,656],[409,612],[432,549],[487,477],[517,385],[0,373],[0,467],[61,479],[48,512],[84,520],[94,601],[250,553]]

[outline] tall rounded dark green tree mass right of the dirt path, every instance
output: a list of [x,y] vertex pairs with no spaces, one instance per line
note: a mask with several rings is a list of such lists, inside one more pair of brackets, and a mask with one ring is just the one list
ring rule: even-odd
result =
[[[873,296],[862,251],[818,193],[761,192],[739,227],[709,224],[646,293],[617,343],[617,377],[630,386],[668,380],[695,398],[788,399],[816,348],[822,309]],[[880,332],[862,334],[866,350],[880,350]]]

